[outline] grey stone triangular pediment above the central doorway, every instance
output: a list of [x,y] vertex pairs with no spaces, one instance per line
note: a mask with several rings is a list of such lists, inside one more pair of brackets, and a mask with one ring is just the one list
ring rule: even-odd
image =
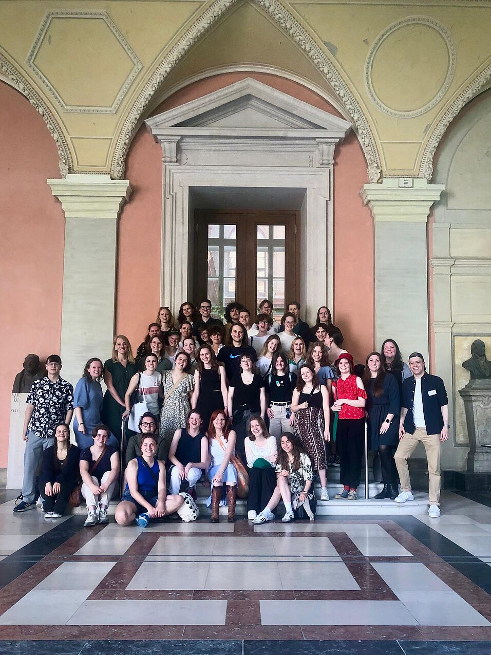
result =
[[285,130],[318,130],[342,139],[351,125],[327,111],[278,91],[267,84],[247,78],[225,88],[164,111],[145,121],[158,135],[182,130],[185,134],[202,129],[264,130],[272,135]]

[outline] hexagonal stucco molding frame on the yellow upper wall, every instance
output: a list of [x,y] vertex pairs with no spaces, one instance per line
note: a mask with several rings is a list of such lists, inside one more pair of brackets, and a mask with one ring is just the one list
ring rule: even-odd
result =
[[[110,107],[91,107],[91,106],[86,106],[86,105],[69,105],[65,103],[64,99],[60,95],[60,93],[54,88],[53,84],[50,82],[50,80],[44,75],[44,73],[37,67],[35,64],[35,58],[37,53],[39,52],[39,48],[43,45],[43,41],[45,39],[46,33],[48,31],[48,28],[52,22],[52,20],[56,20],[57,18],[75,18],[75,19],[81,19],[81,20],[102,20],[104,24],[107,26],[113,37],[117,40],[118,44],[122,47],[124,52],[126,52],[126,55],[128,58],[131,60],[133,64],[133,68],[124,79],[122,86],[120,86],[120,89],[113,100],[113,103],[111,104]],[[120,30],[117,28],[115,23],[109,18],[107,13],[105,11],[52,11],[48,12],[43,19],[43,22],[39,26],[39,29],[37,30],[34,43],[31,46],[31,49],[29,50],[29,54],[27,54],[26,58],[26,64],[27,66],[33,71],[33,73],[39,77],[41,82],[44,84],[44,86],[48,89],[50,94],[56,99],[56,102],[62,107],[63,111],[66,111],[68,113],[84,113],[84,114],[115,114],[117,112],[117,109],[119,105],[121,104],[124,96],[126,96],[126,92],[134,82],[134,79],[138,75],[139,71],[141,71],[143,65],[141,64],[139,58],[137,58],[133,48],[130,46],[128,41],[124,38]]]

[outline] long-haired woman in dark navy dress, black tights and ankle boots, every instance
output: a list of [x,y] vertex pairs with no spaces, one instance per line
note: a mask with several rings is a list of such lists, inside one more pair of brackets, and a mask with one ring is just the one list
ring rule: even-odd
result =
[[368,436],[371,448],[377,450],[382,466],[384,489],[375,498],[391,498],[398,491],[399,478],[395,468],[394,453],[399,443],[399,386],[395,376],[386,373],[379,352],[367,357],[363,384],[367,390]]

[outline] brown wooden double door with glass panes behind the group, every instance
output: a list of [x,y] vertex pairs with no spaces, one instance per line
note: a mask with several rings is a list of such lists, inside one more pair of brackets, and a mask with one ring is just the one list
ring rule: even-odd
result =
[[259,303],[272,301],[275,316],[299,298],[299,212],[196,210],[194,301],[211,300],[223,317],[238,301],[254,320]]

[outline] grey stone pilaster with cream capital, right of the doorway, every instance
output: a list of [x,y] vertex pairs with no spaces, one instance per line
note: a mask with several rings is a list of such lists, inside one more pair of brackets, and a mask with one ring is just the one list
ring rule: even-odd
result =
[[422,352],[429,362],[426,221],[443,184],[397,178],[365,184],[363,202],[375,227],[375,338],[380,348],[393,337],[407,357]]

